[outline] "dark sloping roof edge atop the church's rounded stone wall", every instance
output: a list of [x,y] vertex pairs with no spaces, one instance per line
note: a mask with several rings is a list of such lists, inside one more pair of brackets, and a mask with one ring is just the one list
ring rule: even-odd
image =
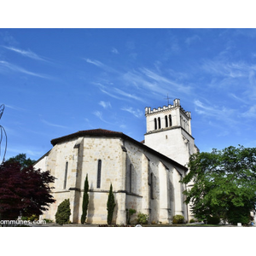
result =
[[78,132],[69,134],[67,136],[55,138],[55,139],[51,140],[50,143],[53,146],[55,146],[57,143],[66,142],[69,139],[73,139],[76,137],[84,137],[84,136],[85,137],[86,136],[89,136],[89,137],[90,136],[92,136],[92,137],[122,137],[126,140],[131,141],[132,143],[137,144],[137,146],[144,148],[151,154],[158,155],[161,159],[167,160],[169,162],[171,161],[172,164],[179,166],[180,168],[184,169],[185,171],[188,171],[187,167],[177,163],[175,160],[172,160],[171,158],[167,157],[165,154],[161,154],[158,151],[155,151],[153,148],[149,148],[148,146],[143,144],[143,142],[140,143],[137,140],[125,135],[125,133],[120,132],[120,131],[109,131],[109,130],[105,130],[105,129],[93,129],[93,130],[78,131]]

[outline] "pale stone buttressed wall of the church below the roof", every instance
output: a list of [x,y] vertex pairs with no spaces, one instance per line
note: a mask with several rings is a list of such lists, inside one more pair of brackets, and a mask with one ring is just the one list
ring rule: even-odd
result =
[[[99,160],[101,177],[99,182]],[[116,201],[113,223],[126,224],[126,209],[149,215],[154,223],[170,223],[178,211],[185,214],[183,188],[177,178],[184,175],[181,166],[160,158],[143,144],[122,137],[79,137],[55,144],[35,166],[57,177],[52,193],[56,202],[44,218],[55,220],[61,201],[69,198],[71,222],[79,223],[82,214],[84,180],[89,181],[87,223],[107,223],[110,183]],[[180,169],[178,169],[180,168]],[[181,174],[180,174],[181,173]],[[178,176],[177,176],[178,175]],[[176,177],[177,176],[177,177]]]

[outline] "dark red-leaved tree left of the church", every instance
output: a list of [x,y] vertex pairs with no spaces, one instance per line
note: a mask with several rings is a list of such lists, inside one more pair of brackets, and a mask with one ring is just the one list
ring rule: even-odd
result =
[[0,218],[15,219],[20,214],[30,217],[48,210],[55,200],[50,195],[49,183],[55,177],[50,172],[40,172],[32,166],[6,161],[0,166]]

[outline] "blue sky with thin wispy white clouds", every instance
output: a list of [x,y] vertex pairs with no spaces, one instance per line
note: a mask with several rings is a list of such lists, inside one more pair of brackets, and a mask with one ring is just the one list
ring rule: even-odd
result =
[[[108,129],[143,140],[144,108],[181,100],[201,151],[256,145],[256,29],[0,29],[6,159]],[[3,152],[3,145],[2,151]]]

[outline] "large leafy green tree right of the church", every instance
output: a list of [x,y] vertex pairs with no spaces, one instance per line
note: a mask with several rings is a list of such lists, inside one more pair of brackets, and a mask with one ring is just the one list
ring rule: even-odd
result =
[[196,218],[227,219],[247,224],[256,204],[256,148],[229,147],[197,153],[189,159],[189,173],[182,183],[193,182],[184,191]]

